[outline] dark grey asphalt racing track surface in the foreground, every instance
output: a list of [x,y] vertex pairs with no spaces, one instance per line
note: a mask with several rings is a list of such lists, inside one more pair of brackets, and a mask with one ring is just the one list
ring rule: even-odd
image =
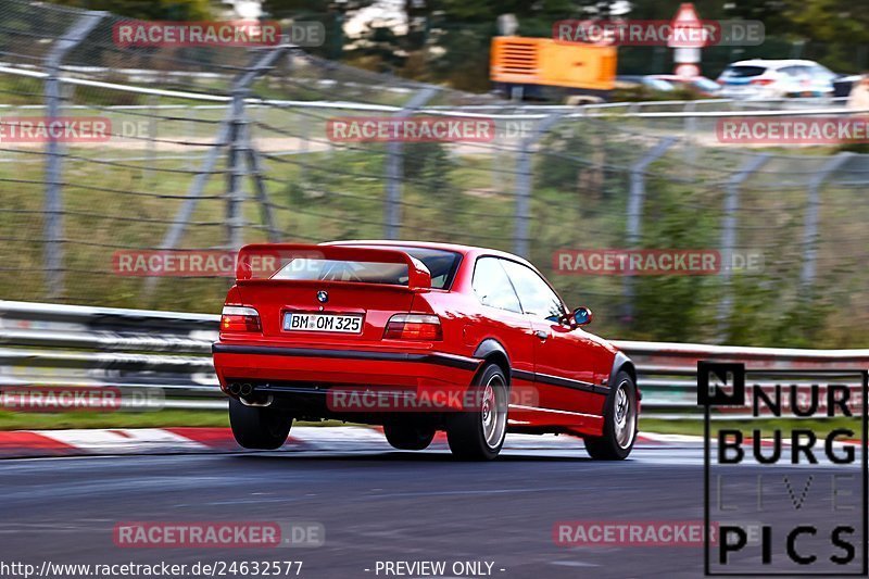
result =
[[[377,559],[494,561],[494,577],[698,577],[702,549],[564,547],[565,519],[703,520],[702,449],[581,448],[101,456],[0,462],[3,561],[194,563],[299,559],[301,577],[375,577]],[[130,520],[313,520],[316,549],[119,549]],[[365,569],[371,569],[365,571]],[[504,570],[500,570],[504,569]],[[451,576],[448,574],[446,576]],[[382,575],[380,575],[382,577]]]

